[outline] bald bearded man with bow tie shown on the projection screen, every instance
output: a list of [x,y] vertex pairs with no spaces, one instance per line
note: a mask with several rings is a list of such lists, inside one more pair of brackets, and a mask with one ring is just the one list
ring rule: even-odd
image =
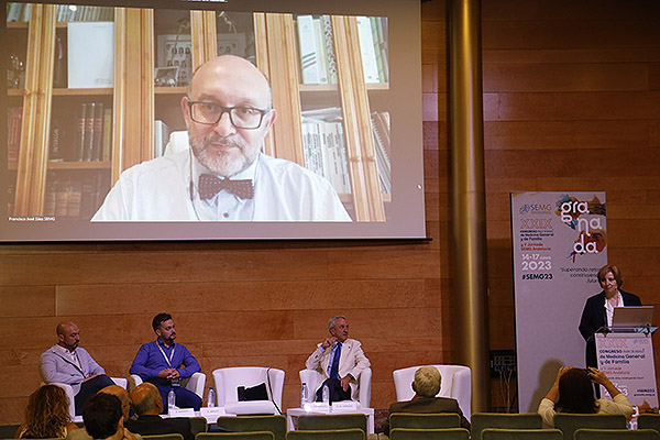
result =
[[182,111],[190,148],[122,173],[92,221],[351,221],[324,178],[262,153],[277,111],[250,62],[193,75]]

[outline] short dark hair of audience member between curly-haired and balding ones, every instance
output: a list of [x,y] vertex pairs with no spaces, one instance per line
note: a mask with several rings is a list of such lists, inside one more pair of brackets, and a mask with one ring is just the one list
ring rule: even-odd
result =
[[121,400],[111,394],[99,393],[82,407],[85,429],[92,439],[107,439],[117,433],[122,416]]

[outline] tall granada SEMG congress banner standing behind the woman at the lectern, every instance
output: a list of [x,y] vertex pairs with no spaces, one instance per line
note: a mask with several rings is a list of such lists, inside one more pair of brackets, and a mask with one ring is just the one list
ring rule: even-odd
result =
[[520,413],[535,413],[562,365],[585,366],[578,331],[607,264],[605,193],[512,193]]

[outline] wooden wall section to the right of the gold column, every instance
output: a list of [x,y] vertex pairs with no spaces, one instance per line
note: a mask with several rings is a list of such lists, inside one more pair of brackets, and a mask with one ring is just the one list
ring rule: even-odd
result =
[[515,349],[512,190],[605,190],[609,261],[660,302],[659,19],[657,2],[483,2],[491,349]]

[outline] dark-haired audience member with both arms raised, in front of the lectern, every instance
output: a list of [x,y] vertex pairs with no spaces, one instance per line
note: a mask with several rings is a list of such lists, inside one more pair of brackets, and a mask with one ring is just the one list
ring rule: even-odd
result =
[[[592,382],[603,385],[613,400],[605,397],[596,400]],[[544,427],[554,427],[557,413],[622,414],[629,418],[634,409],[628,398],[609,382],[605,373],[592,366],[586,370],[562,366],[552,388],[539,405]]]

